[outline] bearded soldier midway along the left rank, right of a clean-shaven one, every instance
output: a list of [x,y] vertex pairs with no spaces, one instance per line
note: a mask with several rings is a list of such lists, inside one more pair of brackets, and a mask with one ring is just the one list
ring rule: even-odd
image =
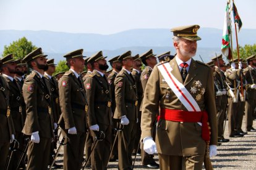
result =
[[[102,51],[90,57],[88,62],[92,63],[94,70],[84,82],[88,101],[88,126],[93,142],[98,140],[92,151],[92,169],[106,169],[112,143],[111,91],[104,75],[108,69],[105,58]],[[103,135],[101,132],[105,134],[104,139],[100,137]]]

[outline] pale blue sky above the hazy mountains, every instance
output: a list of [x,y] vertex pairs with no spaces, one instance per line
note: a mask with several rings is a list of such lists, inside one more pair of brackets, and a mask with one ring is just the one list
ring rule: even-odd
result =
[[[242,28],[256,29],[255,0],[236,0]],[[0,0],[0,30],[112,34],[198,24],[223,29],[225,0]]]

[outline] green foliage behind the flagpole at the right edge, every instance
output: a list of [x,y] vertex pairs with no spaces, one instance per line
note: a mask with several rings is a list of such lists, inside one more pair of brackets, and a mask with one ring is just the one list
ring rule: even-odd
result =
[[[246,59],[250,57],[250,55],[256,54],[256,44],[248,45],[246,44],[244,47],[239,46],[239,57],[241,59]],[[237,58],[237,48],[233,50],[234,59]]]

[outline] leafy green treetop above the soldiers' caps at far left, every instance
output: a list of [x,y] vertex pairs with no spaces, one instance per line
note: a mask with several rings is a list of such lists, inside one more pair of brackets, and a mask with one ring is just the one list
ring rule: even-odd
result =
[[9,46],[4,46],[2,57],[12,53],[14,59],[23,59],[36,48],[37,47],[34,46],[31,41],[28,41],[27,38],[23,37],[17,41],[13,41]]

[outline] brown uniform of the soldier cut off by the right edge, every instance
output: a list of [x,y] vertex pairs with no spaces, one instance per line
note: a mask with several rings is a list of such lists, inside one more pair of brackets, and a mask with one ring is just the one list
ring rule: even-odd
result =
[[252,129],[253,114],[256,104],[256,90],[251,89],[250,86],[256,83],[256,71],[252,67],[247,67],[244,69],[244,75],[248,83],[247,87],[247,100],[245,101],[245,120],[246,120],[246,130]]

